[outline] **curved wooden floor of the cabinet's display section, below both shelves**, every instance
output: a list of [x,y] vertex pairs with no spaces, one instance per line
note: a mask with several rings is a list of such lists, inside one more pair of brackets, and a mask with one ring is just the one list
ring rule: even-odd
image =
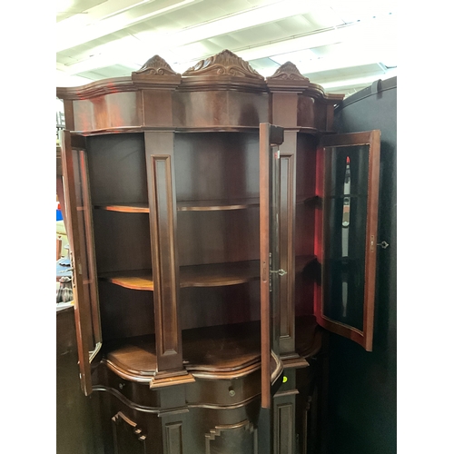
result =
[[[322,330],[312,315],[296,319],[296,350],[300,367],[304,359],[321,349]],[[194,328],[183,331],[183,366],[204,380],[241,378],[261,366],[260,321]],[[293,360],[294,361],[294,360]],[[273,362],[276,362],[273,360]],[[287,361],[288,365],[291,360]],[[127,380],[148,382],[157,370],[153,335],[139,336],[104,345],[104,363]],[[279,370],[278,364],[273,369]],[[169,375],[167,380],[173,380]]]

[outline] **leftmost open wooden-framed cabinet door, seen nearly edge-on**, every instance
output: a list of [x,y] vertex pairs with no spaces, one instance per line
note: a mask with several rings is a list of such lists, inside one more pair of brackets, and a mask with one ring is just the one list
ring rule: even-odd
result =
[[83,136],[68,131],[62,132],[61,143],[77,350],[82,390],[89,395],[92,392],[90,363],[101,349],[102,339],[86,146]]

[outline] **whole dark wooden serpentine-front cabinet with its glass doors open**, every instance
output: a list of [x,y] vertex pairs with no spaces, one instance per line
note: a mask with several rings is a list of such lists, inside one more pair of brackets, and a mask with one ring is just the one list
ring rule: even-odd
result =
[[324,329],[371,349],[380,133],[230,51],[57,95],[104,452],[316,452]]

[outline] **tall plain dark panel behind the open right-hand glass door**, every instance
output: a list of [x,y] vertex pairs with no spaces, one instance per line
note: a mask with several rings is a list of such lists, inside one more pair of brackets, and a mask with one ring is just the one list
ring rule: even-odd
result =
[[336,107],[340,133],[380,129],[380,204],[373,350],[330,335],[327,454],[397,452],[397,77]]

